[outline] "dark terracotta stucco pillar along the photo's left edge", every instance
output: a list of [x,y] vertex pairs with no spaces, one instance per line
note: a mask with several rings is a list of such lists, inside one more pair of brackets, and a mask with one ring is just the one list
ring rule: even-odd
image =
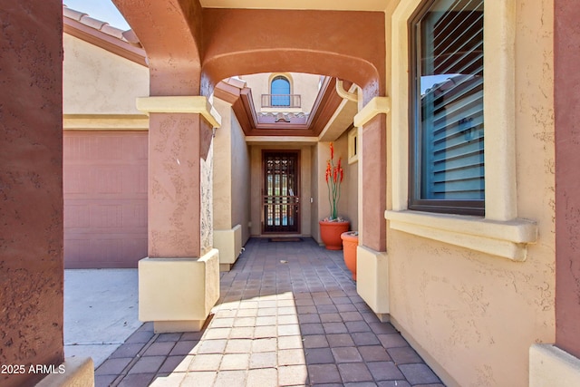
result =
[[[0,364],[63,361],[61,2],[0,4]],[[43,374],[0,374],[5,387]]]

